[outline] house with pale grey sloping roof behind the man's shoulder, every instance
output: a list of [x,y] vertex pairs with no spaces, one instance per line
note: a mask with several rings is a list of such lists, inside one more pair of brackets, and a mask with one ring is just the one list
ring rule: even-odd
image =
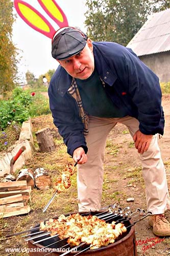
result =
[[127,47],[160,79],[170,82],[170,9],[151,15]]

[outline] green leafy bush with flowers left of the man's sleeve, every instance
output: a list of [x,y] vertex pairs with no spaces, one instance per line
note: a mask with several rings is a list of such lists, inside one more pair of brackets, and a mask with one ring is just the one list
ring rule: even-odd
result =
[[21,124],[29,117],[49,113],[48,99],[41,93],[16,88],[9,99],[0,101],[0,130],[6,129],[13,121]]

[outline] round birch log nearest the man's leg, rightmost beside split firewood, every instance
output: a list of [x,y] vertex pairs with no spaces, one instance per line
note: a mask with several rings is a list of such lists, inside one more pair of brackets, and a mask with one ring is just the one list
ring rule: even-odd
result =
[[52,179],[44,168],[37,168],[34,172],[35,185],[39,189],[48,189],[52,185]]

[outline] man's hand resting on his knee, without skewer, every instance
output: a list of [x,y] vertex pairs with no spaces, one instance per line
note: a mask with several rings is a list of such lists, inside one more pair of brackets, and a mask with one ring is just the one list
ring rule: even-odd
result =
[[138,153],[143,154],[143,152],[148,150],[152,137],[153,135],[145,135],[139,130],[134,134],[133,140]]

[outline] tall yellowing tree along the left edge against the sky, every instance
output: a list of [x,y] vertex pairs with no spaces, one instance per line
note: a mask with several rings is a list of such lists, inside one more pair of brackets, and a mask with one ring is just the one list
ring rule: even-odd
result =
[[14,88],[17,49],[12,42],[13,2],[0,0],[0,94]]

